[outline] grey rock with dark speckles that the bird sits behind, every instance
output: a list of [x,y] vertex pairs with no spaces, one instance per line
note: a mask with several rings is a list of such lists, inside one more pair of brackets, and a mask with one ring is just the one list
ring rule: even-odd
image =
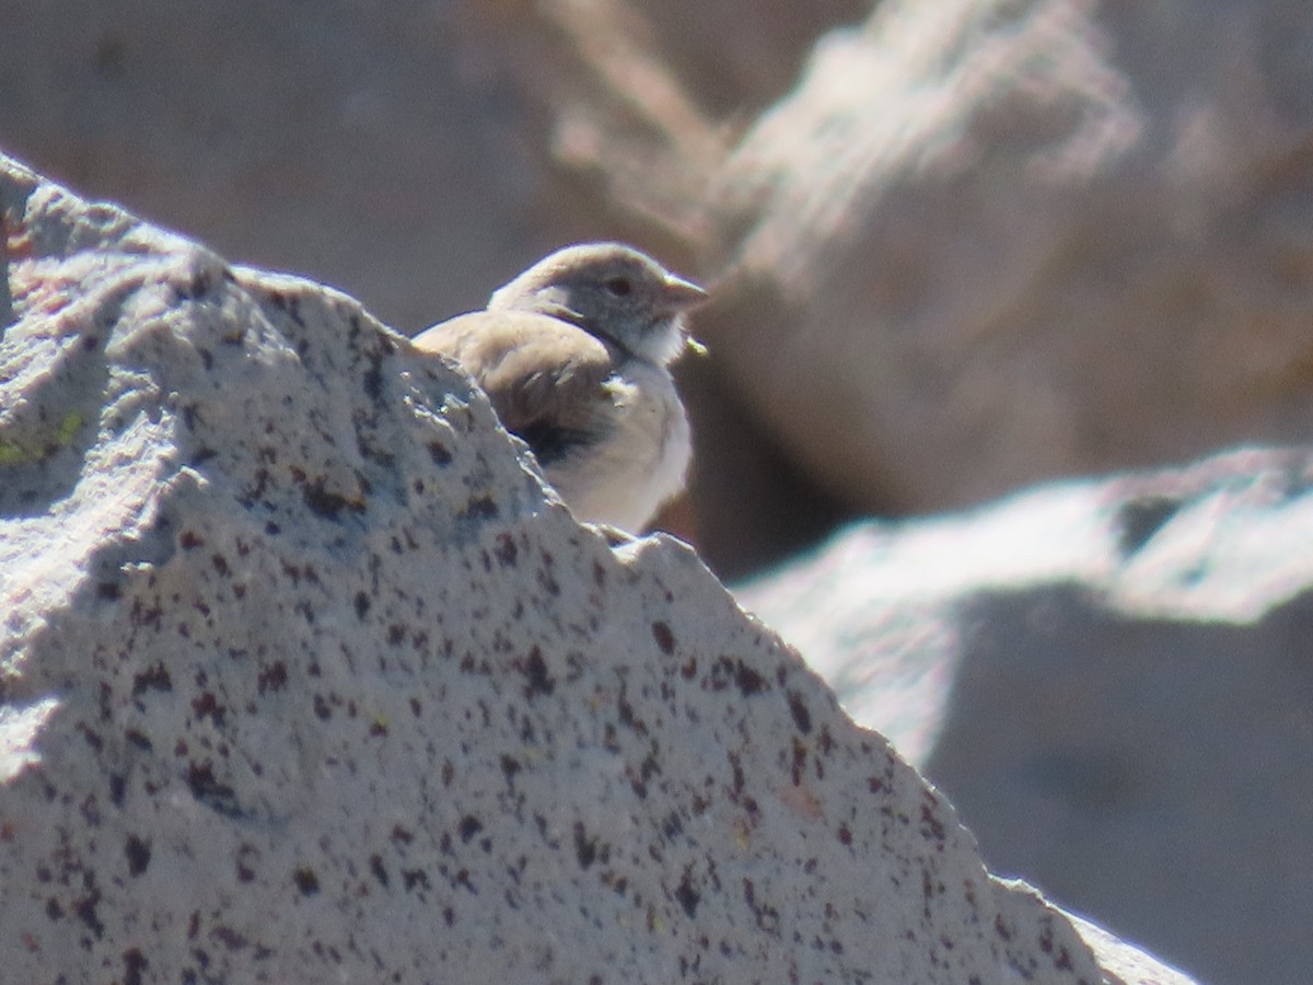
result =
[[3,167],[7,980],[1184,981],[356,302]]

